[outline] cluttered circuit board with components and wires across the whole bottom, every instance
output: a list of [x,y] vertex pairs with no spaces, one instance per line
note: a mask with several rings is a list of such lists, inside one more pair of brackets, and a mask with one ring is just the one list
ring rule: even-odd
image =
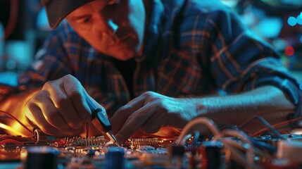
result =
[[[212,134],[190,130],[205,126]],[[0,134],[0,168],[301,168],[302,134],[221,126],[200,118],[178,137],[128,139],[121,146],[105,136]]]

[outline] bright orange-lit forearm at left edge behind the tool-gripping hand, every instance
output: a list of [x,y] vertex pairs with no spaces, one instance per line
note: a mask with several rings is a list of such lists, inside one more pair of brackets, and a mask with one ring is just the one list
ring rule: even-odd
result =
[[[37,92],[38,89],[32,89],[30,91],[22,92],[20,94],[13,94],[9,96],[6,100],[2,101],[0,104],[0,111],[1,113],[8,113],[9,115],[6,116],[13,116],[15,119],[12,120],[4,120],[0,121],[0,123],[4,123],[10,127],[13,127],[11,130],[6,130],[8,134],[16,135],[21,134],[26,137],[32,136],[32,132],[25,130],[24,127],[18,124],[18,121],[23,123],[25,127],[33,130],[33,125],[25,116],[25,104],[27,103],[28,99]],[[18,120],[18,121],[17,121]]]

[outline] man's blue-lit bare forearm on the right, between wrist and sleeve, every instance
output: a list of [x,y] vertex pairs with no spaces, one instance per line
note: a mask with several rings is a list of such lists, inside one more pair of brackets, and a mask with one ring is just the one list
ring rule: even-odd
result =
[[287,119],[295,106],[277,87],[259,87],[253,91],[229,96],[213,96],[194,101],[196,116],[211,118],[215,123],[239,125],[255,115],[270,123]]

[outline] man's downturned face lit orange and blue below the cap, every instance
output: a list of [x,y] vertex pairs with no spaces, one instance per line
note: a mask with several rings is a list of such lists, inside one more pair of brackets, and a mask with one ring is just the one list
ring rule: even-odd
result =
[[126,61],[138,54],[144,39],[142,0],[95,0],[67,17],[75,32],[103,54]]

